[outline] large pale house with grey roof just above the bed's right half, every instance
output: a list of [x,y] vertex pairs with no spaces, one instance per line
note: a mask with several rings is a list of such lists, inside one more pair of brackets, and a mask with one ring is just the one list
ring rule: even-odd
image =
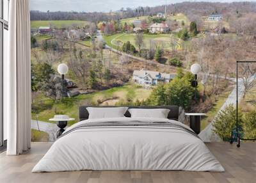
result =
[[143,86],[154,86],[157,83],[169,83],[175,74],[166,74],[150,70],[134,70],[132,80]]

